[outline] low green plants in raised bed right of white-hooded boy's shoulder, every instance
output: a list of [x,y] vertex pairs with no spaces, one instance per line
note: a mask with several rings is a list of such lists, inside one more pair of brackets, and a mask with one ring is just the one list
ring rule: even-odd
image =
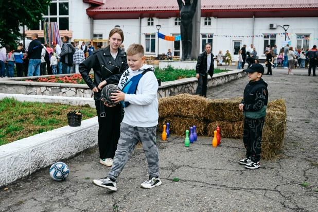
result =
[[[227,72],[228,70],[221,70],[218,68],[214,69],[214,74],[221,73],[221,72]],[[155,67],[154,75],[157,79],[161,79],[162,82],[167,81],[173,81],[177,79],[182,78],[189,78],[189,77],[195,77],[196,76],[196,70],[193,69],[179,69],[179,68],[173,68],[171,65],[168,65],[167,67],[160,69],[158,67]]]

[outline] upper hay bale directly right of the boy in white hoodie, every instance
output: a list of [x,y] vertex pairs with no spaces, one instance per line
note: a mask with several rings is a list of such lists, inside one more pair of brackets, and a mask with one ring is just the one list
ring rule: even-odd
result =
[[179,94],[159,99],[159,117],[181,116],[203,119],[208,100],[199,95]]

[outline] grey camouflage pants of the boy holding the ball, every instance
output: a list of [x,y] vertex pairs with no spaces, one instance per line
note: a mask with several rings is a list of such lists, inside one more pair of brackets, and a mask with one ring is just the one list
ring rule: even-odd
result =
[[114,162],[108,176],[117,180],[123,167],[128,162],[131,153],[140,141],[148,162],[149,175],[159,176],[159,153],[155,142],[157,127],[133,127],[127,123],[120,124],[120,138],[118,140],[117,150]]

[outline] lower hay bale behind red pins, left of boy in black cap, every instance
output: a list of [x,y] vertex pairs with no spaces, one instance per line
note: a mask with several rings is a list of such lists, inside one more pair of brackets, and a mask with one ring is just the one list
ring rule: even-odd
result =
[[214,136],[214,131],[220,127],[221,138],[243,138],[243,121],[214,121],[207,126],[207,135]]

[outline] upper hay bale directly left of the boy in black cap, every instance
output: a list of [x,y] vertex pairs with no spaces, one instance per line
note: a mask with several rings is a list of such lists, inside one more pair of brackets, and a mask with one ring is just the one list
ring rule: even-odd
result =
[[243,98],[209,99],[206,119],[210,121],[241,121],[244,120],[238,105]]

